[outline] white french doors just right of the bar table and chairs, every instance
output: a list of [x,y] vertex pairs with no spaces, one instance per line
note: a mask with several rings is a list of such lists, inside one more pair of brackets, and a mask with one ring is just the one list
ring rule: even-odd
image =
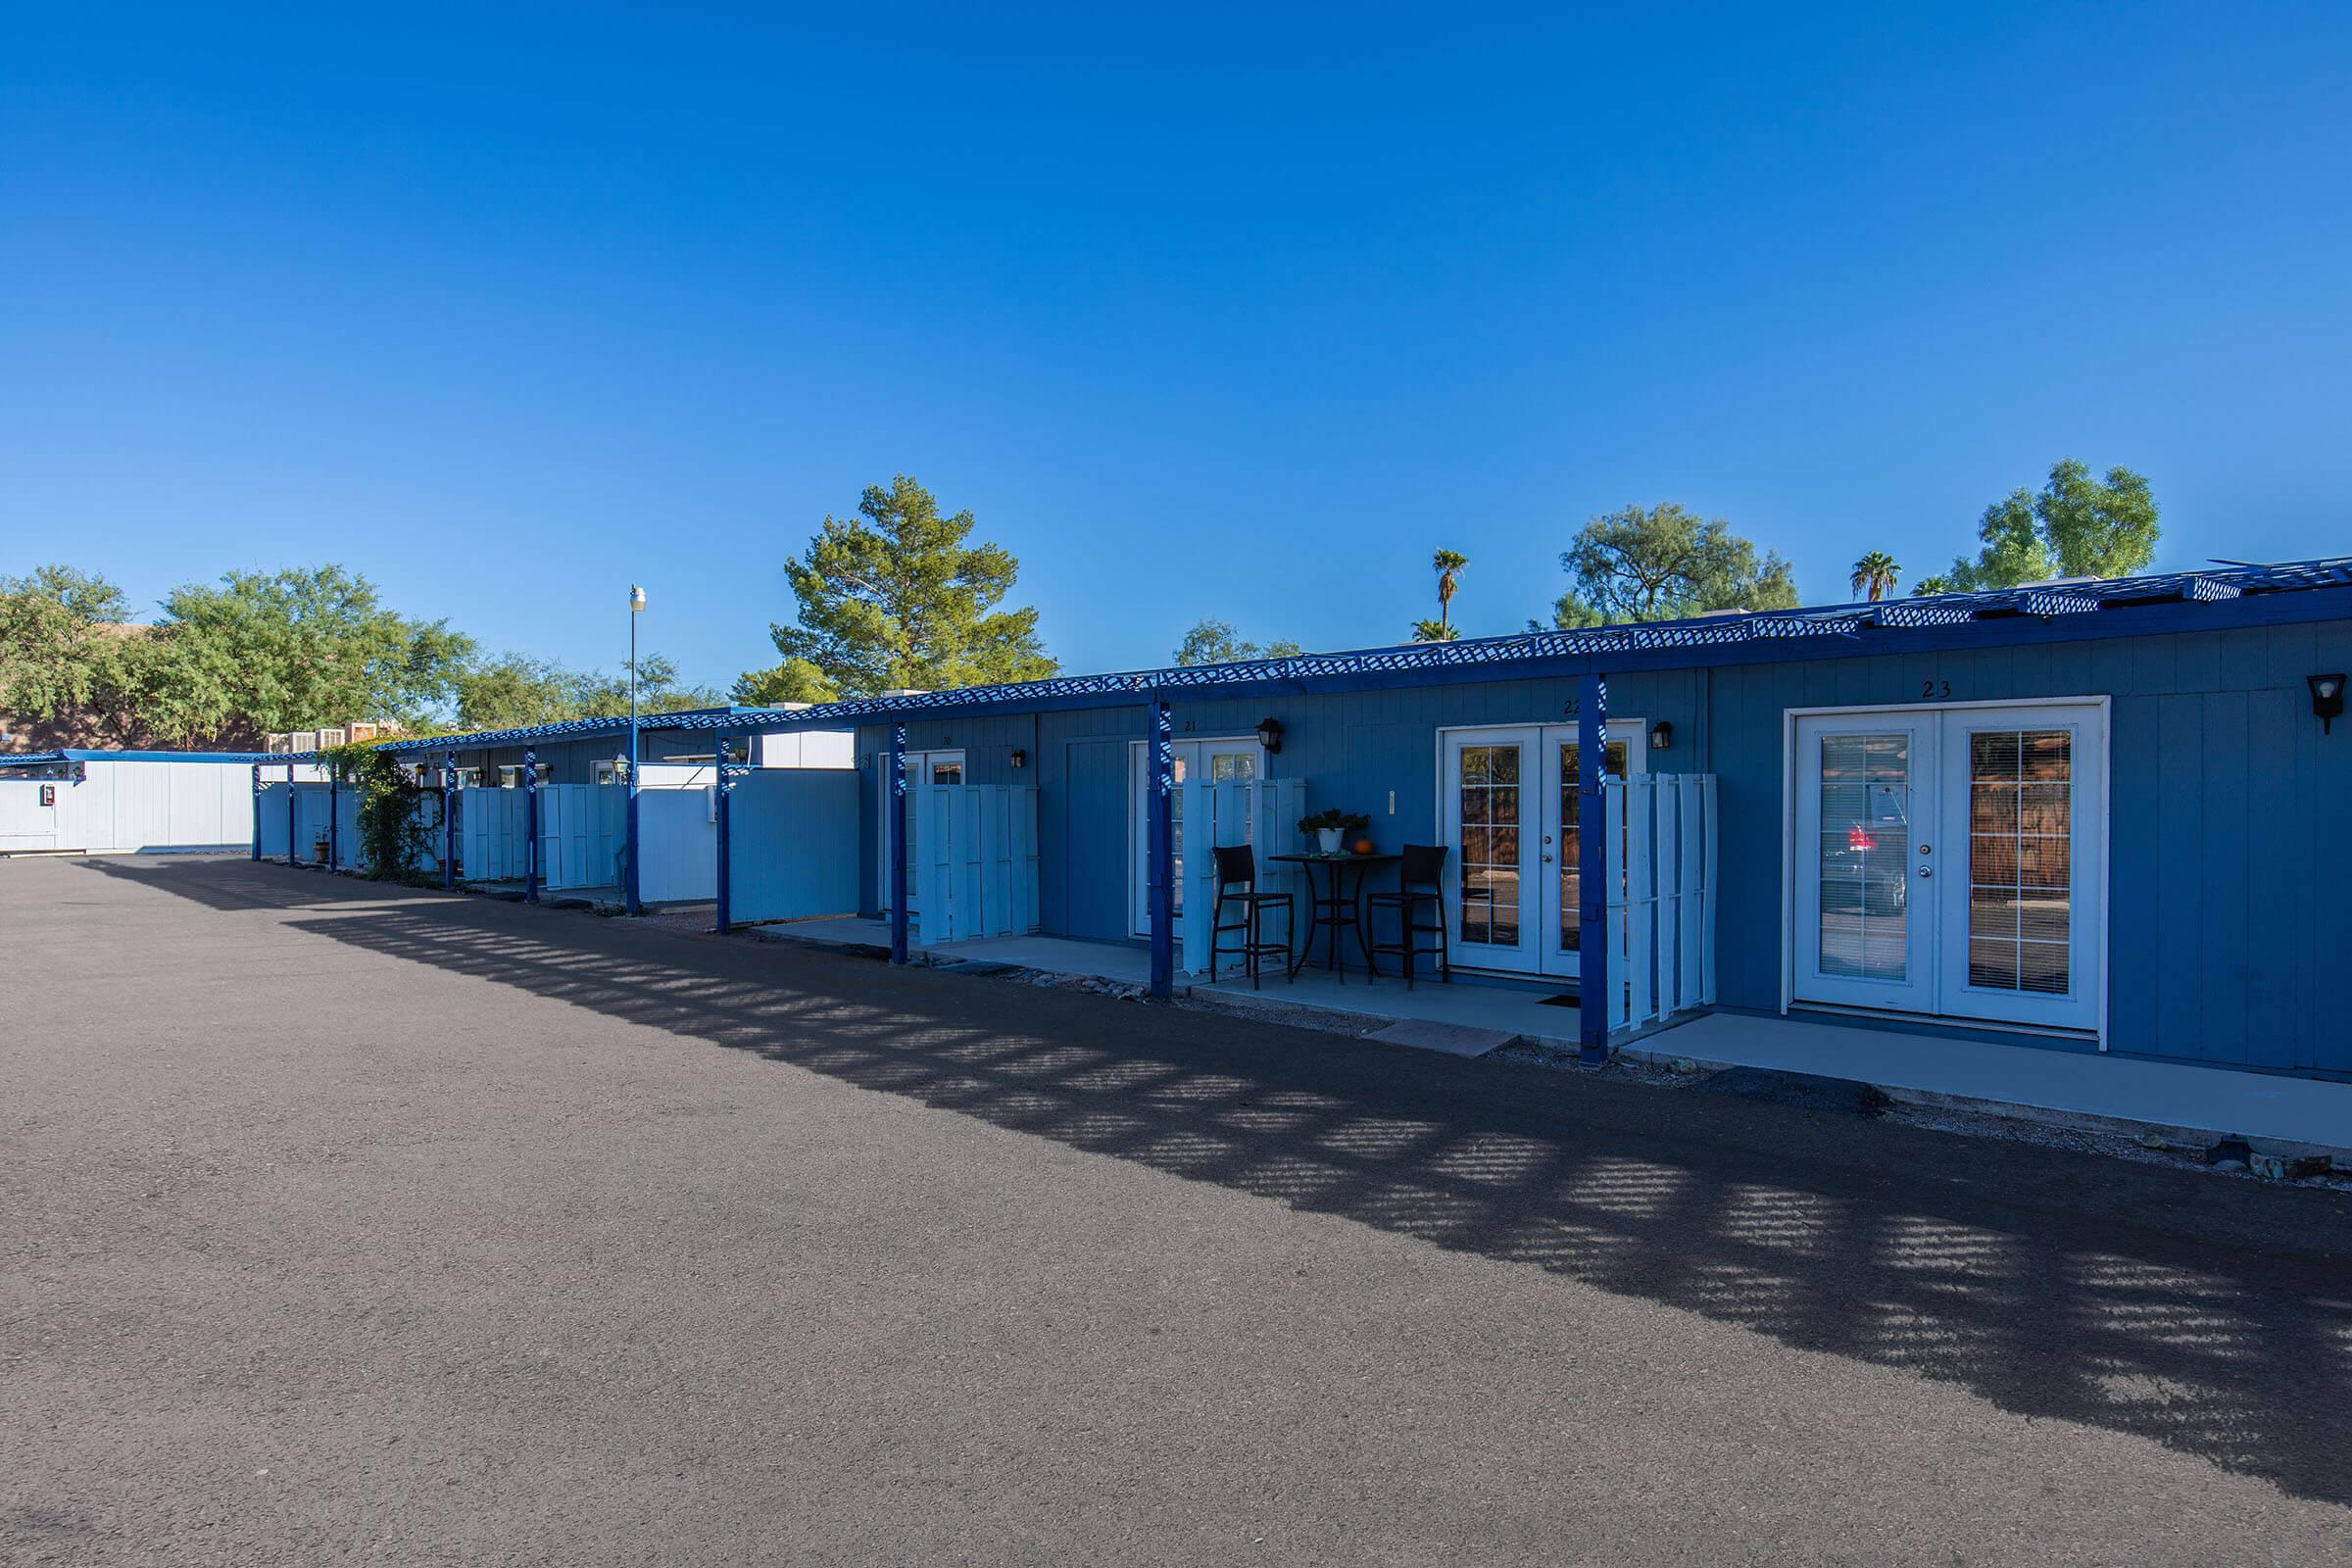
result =
[[[1581,943],[1583,757],[1573,724],[1444,731],[1446,919],[1468,969],[1573,976]],[[1604,769],[1649,766],[1642,719],[1611,719]]]

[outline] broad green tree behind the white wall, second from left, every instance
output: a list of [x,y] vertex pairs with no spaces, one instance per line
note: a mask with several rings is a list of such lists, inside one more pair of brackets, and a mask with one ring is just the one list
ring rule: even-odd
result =
[[473,637],[383,607],[341,567],[230,571],[186,585],[141,637],[141,719],[174,741],[343,719],[414,724],[454,696]]

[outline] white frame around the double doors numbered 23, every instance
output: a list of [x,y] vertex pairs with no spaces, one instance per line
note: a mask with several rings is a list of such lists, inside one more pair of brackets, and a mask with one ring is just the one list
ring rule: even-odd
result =
[[[2091,788],[2086,790],[2089,799],[2079,799],[2077,802],[2077,816],[2074,816],[2074,823],[2077,823],[2077,844],[2082,849],[2091,851],[2086,856],[2091,860],[2091,870],[2089,872],[2077,870],[2077,882],[2074,882],[2074,889],[2072,889],[2074,907],[2084,910],[2086,914],[2091,914],[2091,919],[2096,919],[2096,940],[2086,943],[2086,947],[2096,950],[2096,964],[2098,964],[2098,971],[2096,971],[2096,976],[2091,980],[2091,990],[2086,994],[2086,1013],[2091,1016],[2093,1023],[2082,1025],[2082,1027],[2067,1027],[2067,1025],[2049,1025],[2049,1023],[2016,1023],[2016,1020],[2002,1020],[2002,1018],[1976,1018],[1976,1016],[1950,1013],[1950,1011],[1938,1011],[1938,1013],[1931,1013],[1931,1016],[1936,1016],[1936,1018],[1950,1018],[1952,1023],[1966,1023],[1971,1027],[2018,1030],[2018,1032],[2032,1032],[2032,1034],[2051,1034],[2051,1032],[2084,1034],[2084,1032],[2093,1032],[2096,1039],[2098,1039],[2098,1048],[2100,1051],[2107,1048],[2107,978],[2110,978],[2110,966],[2107,966],[2107,931],[2110,931],[2110,924],[2112,924],[2110,922],[2110,914],[2112,914],[2112,910],[2110,910],[2110,889],[2114,884],[2112,872],[2110,872],[2110,837],[2112,837],[2110,802],[2112,802],[2112,795],[2114,795],[2112,778],[2110,778],[2110,759],[2112,759],[2110,752],[2112,752],[2112,736],[2114,736],[2114,701],[2110,696],[2037,696],[2037,698],[2006,698],[2006,701],[2004,698],[1983,698],[1983,701],[1929,703],[1929,705],[1889,703],[1889,705],[1877,705],[1877,708],[1844,708],[1844,705],[1839,705],[1839,708],[1785,708],[1780,712],[1780,1013],[1783,1016],[1790,1009],[1802,1006],[1797,1001],[1797,997],[1795,997],[1795,990],[1797,990],[1797,882],[1799,882],[1799,865],[1802,865],[1802,860],[1799,860],[1802,844],[1799,844],[1799,837],[1797,837],[1797,823],[1799,823],[1797,802],[1799,802],[1799,790],[1802,790],[1802,783],[1804,783],[1799,778],[1797,719],[1849,717],[1849,715],[1867,719],[1872,715],[1877,715],[1877,717],[1889,717],[1889,715],[1945,715],[1945,712],[1983,712],[1983,710],[2011,710],[2011,712],[2030,715],[2034,710],[2051,710],[2051,708],[2077,710],[2077,712],[2079,710],[2089,710],[2093,715],[2093,719],[2096,719],[2096,724],[2091,726],[2096,733],[2082,736],[2082,738],[2086,738],[2086,741],[2093,743],[2091,745],[2091,759],[2096,764],[2096,778],[2091,780]],[[1964,816],[1959,816],[1959,813],[1966,811],[1966,799],[1959,799],[1959,802],[1940,799],[1943,795],[1950,792],[1945,788],[1945,780],[1947,780],[1947,771],[1938,769],[1938,778],[1936,778],[1938,827],[1936,830],[1938,830],[1938,835],[1945,837],[1945,842],[1964,844],[1966,842],[1966,832],[1962,832],[1959,839],[1952,839],[1947,835],[1947,827],[1955,820],[1962,825],[1962,830],[1966,827]],[[2089,816],[2089,820],[2084,820],[2086,816]],[[2074,860],[2077,860],[2077,867],[2079,867],[2082,860],[2084,860],[2084,856],[2077,856]],[[2084,886],[2084,879],[2089,879],[2093,886]],[[1964,884],[1964,879],[1962,879],[1962,884]],[[1955,891],[1955,893],[1938,896],[1938,905],[1945,898],[1955,900],[1962,907],[1962,922],[1964,922],[1964,907],[1966,905],[1959,898],[1959,893]],[[1938,910],[1938,917],[1940,914],[1943,914],[1943,910]],[[1959,945],[1962,945],[1962,952],[1964,952],[1966,950],[1966,924],[1959,926]],[[1938,947],[1940,947],[1940,952],[1938,952],[1938,969],[1940,969],[1943,961],[1945,961],[1945,954],[1950,952],[1950,940],[1938,938]]]

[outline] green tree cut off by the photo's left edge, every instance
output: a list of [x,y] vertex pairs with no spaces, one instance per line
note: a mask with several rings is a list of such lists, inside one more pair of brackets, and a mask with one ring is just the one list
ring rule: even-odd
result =
[[0,578],[0,715],[56,722],[59,733],[120,738],[136,670],[122,590],[73,567]]

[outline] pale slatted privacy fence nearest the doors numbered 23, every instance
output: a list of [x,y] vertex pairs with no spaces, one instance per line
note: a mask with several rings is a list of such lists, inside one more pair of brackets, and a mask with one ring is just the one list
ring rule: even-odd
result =
[[1715,773],[1637,773],[1602,785],[1609,879],[1609,1027],[1715,1001]]

